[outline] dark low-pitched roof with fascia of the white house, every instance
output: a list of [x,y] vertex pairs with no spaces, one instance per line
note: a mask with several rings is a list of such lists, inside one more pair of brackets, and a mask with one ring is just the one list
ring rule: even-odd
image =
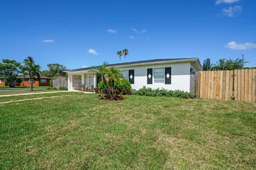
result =
[[[156,60],[144,60],[144,61],[136,61],[136,62],[126,62],[126,63],[117,63],[117,64],[108,64],[108,66],[135,66],[135,65],[147,65],[147,64],[161,64],[161,63],[175,63],[175,62],[193,62],[198,71],[202,71],[202,65],[199,61],[199,58],[166,58],[166,59],[156,59]],[[73,72],[73,71],[84,71],[91,70],[92,67],[85,67],[82,69],[74,69],[68,70],[65,72]]]

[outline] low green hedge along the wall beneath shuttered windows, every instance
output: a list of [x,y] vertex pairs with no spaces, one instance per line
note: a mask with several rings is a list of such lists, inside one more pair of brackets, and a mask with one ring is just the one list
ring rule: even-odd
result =
[[166,89],[151,89],[145,86],[139,90],[133,90],[132,95],[140,96],[166,96],[166,97],[179,97],[179,98],[196,98],[196,94],[191,94],[181,90],[166,90]]

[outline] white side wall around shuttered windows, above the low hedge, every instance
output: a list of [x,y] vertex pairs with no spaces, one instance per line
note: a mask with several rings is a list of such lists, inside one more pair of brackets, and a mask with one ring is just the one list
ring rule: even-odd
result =
[[[154,65],[146,65],[146,66],[133,66],[133,67],[119,67],[119,70],[133,70],[134,69],[134,84],[132,84],[133,89],[140,89],[143,86],[150,87],[153,89],[164,88],[168,90],[190,90],[190,63],[170,63],[170,64],[154,64]],[[171,74],[171,84],[164,83],[154,83],[153,76],[153,84],[147,84],[147,69],[160,68],[160,67],[172,67]],[[130,75],[129,75],[130,76]]]

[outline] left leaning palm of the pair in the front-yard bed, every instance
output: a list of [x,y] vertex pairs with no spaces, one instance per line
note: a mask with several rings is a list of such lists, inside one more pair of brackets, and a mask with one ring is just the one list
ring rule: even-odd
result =
[[111,92],[109,90],[109,84],[106,80],[106,75],[108,76],[108,73],[109,73],[107,66],[108,66],[108,63],[105,61],[105,62],[103,62],[103,64],[101,66],[93,66],[92,70],[90,70],[90,72],[101,77],[101,80],[103,81],[103,83],[106,87],[108,95],[110,96],[111,99],[113,99],[113,95],[111,94]]

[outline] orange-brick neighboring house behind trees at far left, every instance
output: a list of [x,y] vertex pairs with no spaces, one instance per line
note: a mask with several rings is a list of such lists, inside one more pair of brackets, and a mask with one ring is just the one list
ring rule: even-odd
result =
[[[21,83],[17,83],[16,86],[30,86],[30,76],[26,76],[25,78],[19,77],[23,81]],[[33,87],[38,87],[38,86],[50,86],[50,80],[52,78],[41,76],[39,79],[35,76],[35,81],[33,83]],[[7,84],[3,81],[3,78],[0,78],[0,86],[7,86]]]

